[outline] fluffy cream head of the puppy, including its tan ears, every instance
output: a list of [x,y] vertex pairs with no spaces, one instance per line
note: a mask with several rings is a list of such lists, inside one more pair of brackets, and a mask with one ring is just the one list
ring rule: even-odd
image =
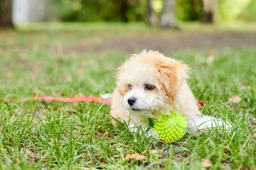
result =
[[116,85],[121,104],[136,115],[158,117],[188,78],[189,68],[158,51],[134,54],[118,68]]

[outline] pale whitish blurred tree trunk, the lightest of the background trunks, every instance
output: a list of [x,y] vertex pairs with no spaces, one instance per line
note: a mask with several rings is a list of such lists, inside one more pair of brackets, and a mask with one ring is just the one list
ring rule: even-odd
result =
[[177,29],[175,4],[176,0],[164,0],[164,6],[160,20],[160,26],[162,28]]

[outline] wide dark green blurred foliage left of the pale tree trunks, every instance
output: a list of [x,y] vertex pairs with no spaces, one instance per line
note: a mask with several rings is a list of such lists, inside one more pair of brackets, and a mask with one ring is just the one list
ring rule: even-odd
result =
[[62,21],[142,21],[146,0],[51,0]]

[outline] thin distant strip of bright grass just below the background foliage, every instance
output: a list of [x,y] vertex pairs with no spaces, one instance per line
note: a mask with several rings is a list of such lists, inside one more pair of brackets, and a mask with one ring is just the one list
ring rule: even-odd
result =
[[[235,32],[254,32],[256,28],[255,22],[225,22],[218,23],[215,25],[211,24],[198,24],[198,22],[178,22],[178,26],[186,31],[235,31]],[[122,22],[114,22],[114,23],[106,23],[106,22],[38,22],[33,24],[18,24],[16,28],[20,31],[58,31],[58,30],[70,30],[70,31],[119,31],[120,29],[123,31],[144,31],[148,29],[148,26],[143,22],[131,22],[131,23],[122,23]],[[153,27],[151,30],[159,31],[158,27]]]

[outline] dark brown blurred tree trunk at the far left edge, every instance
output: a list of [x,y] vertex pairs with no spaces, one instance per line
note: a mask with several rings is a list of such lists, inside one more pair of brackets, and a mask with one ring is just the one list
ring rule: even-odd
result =
[[13,28],[11,12],[12,0],[0,0],[0,27]]

